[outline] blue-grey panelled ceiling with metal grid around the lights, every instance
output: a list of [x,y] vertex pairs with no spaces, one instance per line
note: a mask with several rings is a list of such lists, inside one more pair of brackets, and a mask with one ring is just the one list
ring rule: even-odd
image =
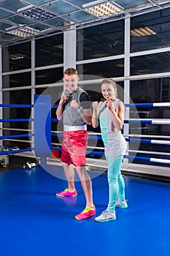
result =
[[[112,4],[119,9],[117,14],[97,17],[87,11],[87,5]],[[119,20],[125,15],[136,16],[141,13],[163,10],[170,7],[170,1],[161,0],[116,0],[116,1],[90,1],[90,0],[0,0],[0,45],[10,45],[32,37],[11,34],[14,29],[31,29],[35,31],[34,37],[42,37],[47,34],[61,33],[69,30],[70,25],[77,29],[90,26],[92,23],[102,24],[111,20]],[[39,18],[26,16],[28,10],[39,10]],[[46,13],[48,18],[42,16]],[[27,13],[28,14],[28,13]],[[10,34],[9,34],[10,33]]]

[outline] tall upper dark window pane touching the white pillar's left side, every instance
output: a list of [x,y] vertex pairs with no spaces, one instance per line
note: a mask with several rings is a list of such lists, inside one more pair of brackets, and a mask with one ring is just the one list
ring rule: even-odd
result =
[[36,67],[63,63],[63,34],[36,40]]

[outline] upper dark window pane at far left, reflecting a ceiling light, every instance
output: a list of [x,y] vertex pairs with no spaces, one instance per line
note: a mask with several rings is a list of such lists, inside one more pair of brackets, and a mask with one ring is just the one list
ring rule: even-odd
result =
[[3,72],[31,68],[31,42],[2,48]]

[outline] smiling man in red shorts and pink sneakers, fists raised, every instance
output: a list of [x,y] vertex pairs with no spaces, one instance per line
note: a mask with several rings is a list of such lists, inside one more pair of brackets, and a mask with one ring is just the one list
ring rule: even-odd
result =
[[86,207],[76,219],[88,219],[96,214],[93,205],[92,182],[85,170],[86,148],[88,131],[86,124],[91,123],[92,111],[90,109],[90,97],[88,93],[77,85],[79,82],[78,72],[74,68],[66,69],[63,74],[65,89],[56,110],[59,120],[63,118],[63,143],[61,151],[61,163],[63,165],[68,189],[58,192],[58,197],[76,197],[77,190],[74,187],[74,168],[80,178],[82,189],[85,193]]

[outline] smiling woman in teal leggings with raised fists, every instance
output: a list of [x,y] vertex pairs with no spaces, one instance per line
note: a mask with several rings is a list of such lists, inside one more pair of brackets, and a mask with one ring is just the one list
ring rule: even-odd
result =
[[101,83],[104,102],[93,102],[92,125],[101,127],[101,138],[107,159],[109,183],[109,203],[107,209],[95,218],[96,222],[108,222],[116,219],[115,207],[128,208],[125,200],[125,183],[120,168],[126,151],[125,138],[121,134],[123,128],[125,106],[117,99],[117,85],[112,79],[104,79]]

